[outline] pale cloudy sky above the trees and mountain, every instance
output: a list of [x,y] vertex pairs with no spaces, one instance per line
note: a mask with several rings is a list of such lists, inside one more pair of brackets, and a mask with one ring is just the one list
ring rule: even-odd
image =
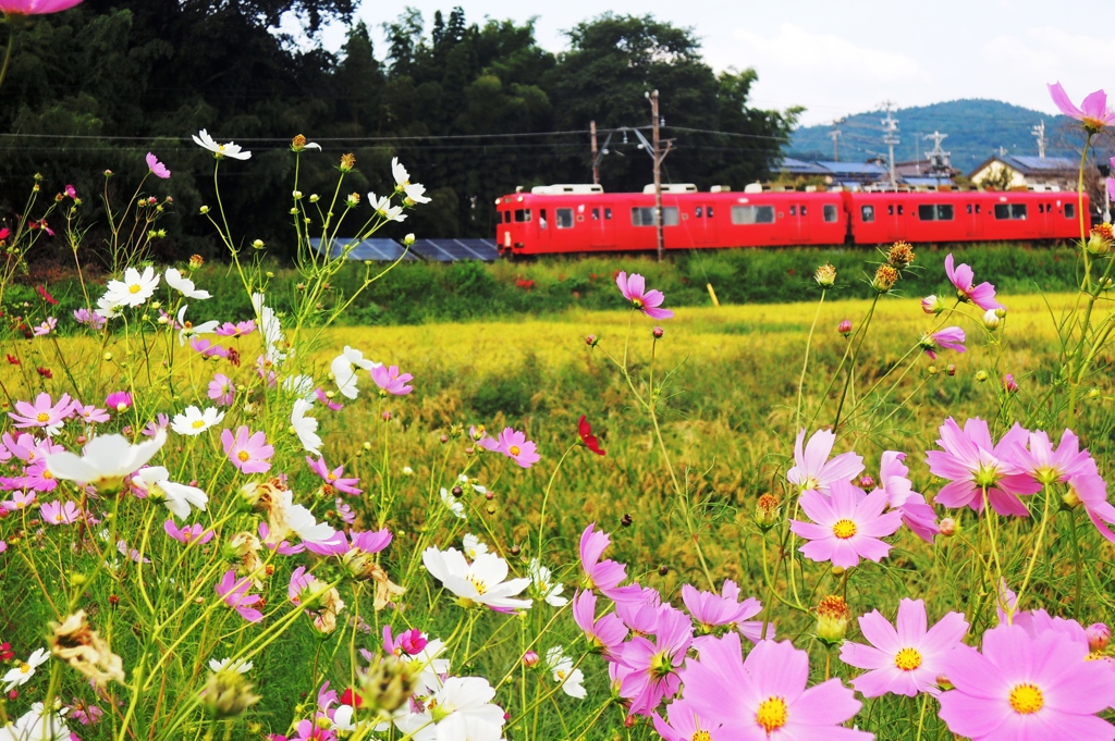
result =
[[[568,49],[563,30],[604,10],[651,13],[691,27],[714,69],[754,67],[752,104],[804,106],[803,125],[847,114],[958,98],[993,98],[1056,113],[1046,82],[1079,101],[1107,86],[1115,98],[1115,33],[1098,0],[405,0],[427,25],[454,4],[468,22],[536,18],[539,43]],[[358,14],[387,45],[380,25],[401,6],[365,0]],[[341,29],[326,46],[338,48]]]

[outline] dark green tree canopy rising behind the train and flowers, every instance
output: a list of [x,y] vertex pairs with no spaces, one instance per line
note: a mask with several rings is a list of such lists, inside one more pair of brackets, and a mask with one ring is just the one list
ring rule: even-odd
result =
[[[212,197],[207,153],[190,143],[206,128],[254,153],[222,168],[224,205],[244,238],[287,234],[295,134],[320,140],[303,157],[302,189],[336,176],[340,155],[358,169],[346,188],[382,193],[398,156],[427,184],[434,203],[399,234],[489,236],[496,196],[517,185],[591,182],[588,128],[648,127],[646,92],[658,89],[663,137],[672,140],[665,176],[741,187],[765,177],[797,110],[748,105],[754,69],[717,75],[692,29],[651,16],[604,13],[569,31],[571,48],[541,48],[531,22],[469,22],[460,8],[429,23],[415,9],[384,23],[387,48],[351,25],[352,0],[87,0],[41,17],[14,35],[0,88],[0,215],[10,218],[30,175],[47,187],[99,191],[106,167],[142,175],[148,150],[174,170],[156,184],[174,195],[175,240],[165,250],[204,251],[195,216]],[[278,27],[301,19],[295,40]],[[337,53],[314,33],[350,23]],[[648,134],[649,136],[649,134]],[[641,189],[650,158],[615,133],[601,163],[605,189]],[[178,236],[181,235],[181,236]]]

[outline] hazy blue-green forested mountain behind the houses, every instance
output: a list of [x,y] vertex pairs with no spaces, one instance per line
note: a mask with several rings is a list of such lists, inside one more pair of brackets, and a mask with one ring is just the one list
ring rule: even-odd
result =
[[[849,116],[840,125],[840,158],[864,162],[886,155],[883,144],[882,110]],[[933,142],[924,135],[940,131],[949,138],[941,144],[952,153],[952,166],[968,174],[988,157],[1005,147],[1007,154],[1038,154],[1034,126],[1045,119],[1047,156],[1079,157],[1083,135],[1076,121],[1067,116],[1050,116],[1000,100],[950,100],[931,106],[901,108],[893,113],[899,121],[900,144],[894,148],[895,162],[919,159],[919,154],[932,149]],[[831,126],[806,126],[794,131],[788,155],[799,159],[832,159]]]

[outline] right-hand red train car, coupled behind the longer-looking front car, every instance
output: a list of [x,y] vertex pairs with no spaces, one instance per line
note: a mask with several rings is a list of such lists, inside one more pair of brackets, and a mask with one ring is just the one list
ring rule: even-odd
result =
[[[1064,192],[845,192],[853,244],[1066,240],[1080,236]],[[1088,198],[1084,198],[1084,213]]]

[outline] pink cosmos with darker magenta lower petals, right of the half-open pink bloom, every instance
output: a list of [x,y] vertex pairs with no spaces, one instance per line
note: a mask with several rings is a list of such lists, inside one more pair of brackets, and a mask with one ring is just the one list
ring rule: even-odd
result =
[[987,422],[975,417],[964,422],[963,431],[950,417],[940,428],[937,441],[944,450],[925,454],[933,476],[948,479],[937,493],[935,501],[946,507],[971,507],[983,510],[982,488],[987,487],[991,508],[1000,515],[1029,517],[1019,495],[1038,491],[1041,484],[1019,462],[1026,459],[1028,433],[1017,423],[999,445],[991,441]]

